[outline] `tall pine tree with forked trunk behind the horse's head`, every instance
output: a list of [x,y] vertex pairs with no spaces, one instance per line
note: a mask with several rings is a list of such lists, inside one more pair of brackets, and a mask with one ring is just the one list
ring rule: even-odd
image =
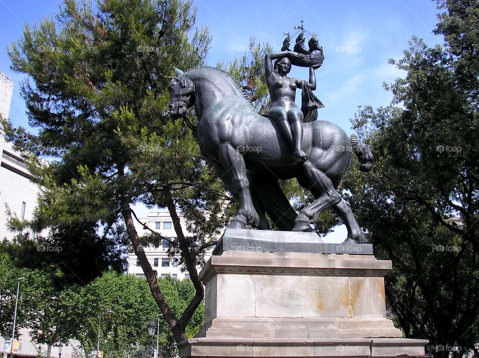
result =
[[[195,11],[179,0],[100,0],[94,7],[66,0],[54,18],[26,26],[8,50],[12,69],[29,76],[22,95],[38,133],[8,124],[4,130],[17,149],[50,159],[44,165],[30,158],[42,187],[30,225],[37,232],[49,227],[47,240],[64,240],[71,227],[101,232],[119,245],[128,238],[176,342],[187,337],[203,299],[195,265],[224,226],[221,200],[229,199],[191,132],[162,116],[173,66],[200,64],[210,43],[207,28],[195,30]],[[196,292],[181,315],[170,308],[141,249],[137,202],[168,207],[172,216],[178,237],[172,246]],[[183,233],[178,208],[194,222],[192,238]],[[166,238],[152,233],[153,239]]]

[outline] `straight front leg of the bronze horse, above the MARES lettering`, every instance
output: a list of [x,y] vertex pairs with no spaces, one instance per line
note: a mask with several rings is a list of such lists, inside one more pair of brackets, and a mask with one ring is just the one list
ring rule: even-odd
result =
[[249,181],[246,177],[246,166],[244,165],[243,156],[229,144],[220,146],[219,151],[221,165],[231,180],[231,189],[236,193],[240,201],[240,210],[231,220],[228,227],[245,228],[248,225],[251,227],[258,226],[259,216],[254,209],[249,192]]

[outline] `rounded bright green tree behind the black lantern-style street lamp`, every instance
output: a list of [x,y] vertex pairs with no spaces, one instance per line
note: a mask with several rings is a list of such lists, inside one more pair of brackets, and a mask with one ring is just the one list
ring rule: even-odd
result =
[[75,296],[79,322],[75,338],[84,354],[100,350],[105,357],[125,357],[147,341],[146,325],[158,308],[146,280],[108,271],[82,287]]

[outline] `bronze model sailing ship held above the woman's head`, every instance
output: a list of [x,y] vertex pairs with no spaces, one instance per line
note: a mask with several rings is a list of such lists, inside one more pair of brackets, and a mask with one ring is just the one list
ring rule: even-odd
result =
[[[291,58],[291,64],[300,67],[310,67],[314,65],[317,67],[321,66],[324,60],[323,47],[319,46],[318,40],[316,39],[316,34],[306,31],[303,27],[303,21],[301,21],[301,26],[294,26],[294,29],[299,31],[296,31],[293,36],[295,36],[298,32],[299,34],[296,37],[293,51],[304,56],[300,58]],[[304,42],[306,41],[304,36],[305,33],[308,33],[310,36],[308,41],[308,50],[304,48]],[[283,47],[281,47],[281,51],[291,51],[289,49],[291,36],[289,35],[289,32],[284,34],[286,35],[286,38],[283,41]]]

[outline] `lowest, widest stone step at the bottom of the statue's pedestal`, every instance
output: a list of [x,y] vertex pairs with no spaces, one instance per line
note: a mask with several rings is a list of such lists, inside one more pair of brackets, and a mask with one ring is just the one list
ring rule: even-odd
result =
[[392,358],[424,356],[428,341],[398,338],[354,339],[220,339],[194,338],[178,345],[180,356],[187,358],[240,357],[348,357]]

